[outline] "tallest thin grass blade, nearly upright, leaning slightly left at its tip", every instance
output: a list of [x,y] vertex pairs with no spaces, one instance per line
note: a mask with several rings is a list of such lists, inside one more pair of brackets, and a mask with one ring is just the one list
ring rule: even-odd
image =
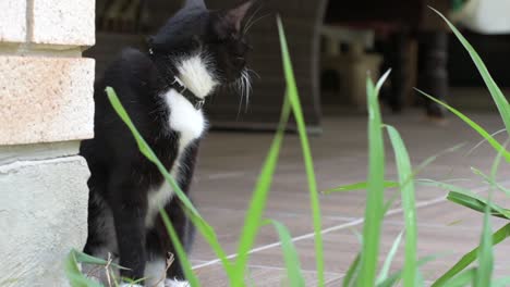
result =
[[278,24],[278,32],[279,32],[279,37],[280,37],[281,55],[282,55],[282,61],[283,61],[283,71],[284,71],[286,80],[287,80],[288,96],[289,96],[289,100],[292,107],[292,112],[293,112],[293,115],[298,125],[298,132],[300,135],[303,158],[305,162],[306,177],[308,180],[309,202],[311,202],[312,216],[313,216],[313,223],[314,223],[317,285],[321,287],[325,284],[324,250],[323,250],[323,234],[321,234],[323,223],[321,223],[321,216],[320,216],[320,203],[318,199],[319,194],[317,190],[317,180],[315,178],[312,151],[311,151],[308,138],[306,135],[306,126],[304,122],[303,111],[301,109],[298,86],[295,85],[295,78],[294,78],[294,73],[292,70],[292,63],[290,60],[290,53],[289,53],[289,48],[287,45],[286,34],[283,30],[283,24],[281,23],[281,18],[279,16],[277,18],[277,24]]

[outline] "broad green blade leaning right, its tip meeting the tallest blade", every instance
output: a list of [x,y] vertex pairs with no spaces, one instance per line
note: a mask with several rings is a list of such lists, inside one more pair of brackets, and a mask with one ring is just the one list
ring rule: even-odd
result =
[[248,251],[252,248],[257,232],[260,228],[263,212],[266,207],[267,196],[272,183],[272,176],[278,163],[280,148],[284,137],[287,122],[290,116],[290,101],[286,97],[281,112],[278,132],[272,140],[266,161],[263,165],[260,175],[255,186],[250,208],[245,215],[244,226],[241,233],[241,239],[238,248],[238,259],[235,261],[235,286],[242,285],[246,262],[248,260]]

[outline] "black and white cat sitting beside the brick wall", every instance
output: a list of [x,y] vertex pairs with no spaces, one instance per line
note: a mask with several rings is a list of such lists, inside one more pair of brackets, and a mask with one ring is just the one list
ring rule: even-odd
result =
[[[203,0],[184,8],[149,40],[149,50],[125,49],[95,87],[95,138],[81,154],[92,176],[85,252],[119,260],[120,275],[145,278],[144,286],[187,286],[158,214],[165,208],[181,241],[190,248],[193,226],[156,166],[142,155],[127,127],[111,108],[111,86],[142,136],[187,192],[198,142],[207,128],[202,105],[223,85],[246,83],[245,2],[211,11]],[[84,273],[105,280],[105,272]],[[101,274],[102,273],[102,274]]]

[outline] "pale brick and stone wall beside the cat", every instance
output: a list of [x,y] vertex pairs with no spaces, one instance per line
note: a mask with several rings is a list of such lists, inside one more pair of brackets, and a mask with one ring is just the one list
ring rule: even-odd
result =
[[86,239],[94,0],[0,1],[0,286],[66,286]]

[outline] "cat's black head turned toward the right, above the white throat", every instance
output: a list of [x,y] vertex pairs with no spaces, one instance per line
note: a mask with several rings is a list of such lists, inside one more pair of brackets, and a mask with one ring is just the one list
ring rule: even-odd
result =
[[203,0],[186,0],[167,24],[150,38],[155,54],[174,61],[199,55],[220,84],[246,74],[250,50],[245,21],[253,0],[233,9],[208,10]]

